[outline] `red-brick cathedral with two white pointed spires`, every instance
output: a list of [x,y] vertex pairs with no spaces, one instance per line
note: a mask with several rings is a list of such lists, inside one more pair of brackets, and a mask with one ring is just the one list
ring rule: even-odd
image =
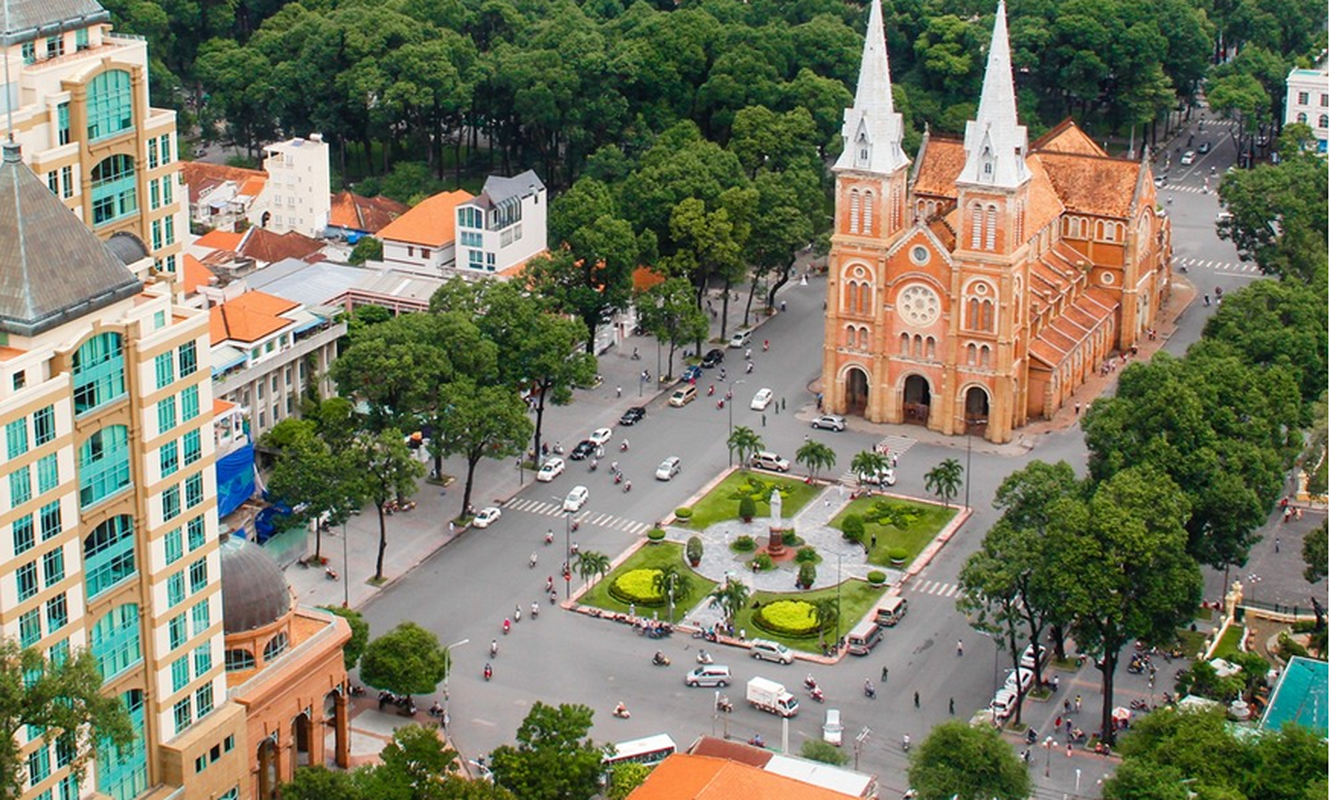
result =
[[1073,122],[1028,141],[1005,3],[966,134],[911,163],[872,0],[834,166],[823,408],[1011,441],[1048,419],[1169,296],[1168,217],[1148,157],[1109,157]]

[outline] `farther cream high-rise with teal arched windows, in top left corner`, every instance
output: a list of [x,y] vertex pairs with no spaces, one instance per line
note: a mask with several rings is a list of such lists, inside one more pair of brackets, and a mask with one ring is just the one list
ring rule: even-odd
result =
[[148,43],[112,33],[96,0],[9,0],[0,12],[0,126],[98,237],[132,233],[174,274],[189,233],[176,112],[148,101]]

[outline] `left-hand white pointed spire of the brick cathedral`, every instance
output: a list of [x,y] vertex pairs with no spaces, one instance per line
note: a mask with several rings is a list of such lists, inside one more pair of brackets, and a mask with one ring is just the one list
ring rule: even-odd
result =
[[882,0],[868,7],[868,29],[859,61],[859,84],[854,105],[845,112],[845,150],[837,170],[891,174],[910,163],[900,140],[904,126],[891,101],[891,69],[887,64],[887,37],[882,24]]

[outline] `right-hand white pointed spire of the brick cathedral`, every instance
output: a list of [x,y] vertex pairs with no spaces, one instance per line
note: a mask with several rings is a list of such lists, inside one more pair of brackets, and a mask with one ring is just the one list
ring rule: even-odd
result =
[[962,183],[1015,189],[1029,179],[1025,149],[1029,137],[1016,118],[1016,84],[1011,70],[1011,43],[1007,37],[1007,3],[999,0],[994,37],[988,45],[988,66],[979,112],[966,124],[966,166]]

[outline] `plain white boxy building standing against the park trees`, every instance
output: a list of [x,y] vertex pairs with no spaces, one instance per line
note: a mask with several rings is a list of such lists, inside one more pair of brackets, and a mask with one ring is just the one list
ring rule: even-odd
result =
[[249,207],[250,225],[319,238],[329,226],[332,190],[323,134],[263,148],[267,181]]

